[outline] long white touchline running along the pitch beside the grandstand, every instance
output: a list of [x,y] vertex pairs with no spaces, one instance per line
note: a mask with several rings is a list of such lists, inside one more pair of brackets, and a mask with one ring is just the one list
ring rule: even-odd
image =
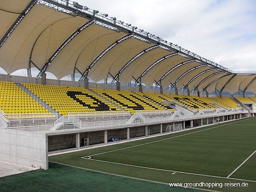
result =
[[[245,121],[245,120],[247,120],[247,119],[243,119],[241,121]],[[241,122],[241,121],[238,121],[238,122]],[[188,133],[188,134],[178,135],[178,136],[175,136],[175,137],[169,137],[169,138],[162,139],[162,140],[152,141],[152,142],[148,142],[148,143],[142,143],[142,144],[139,144],[139,145],[133,145],[133,146],[130,146],[130,147],[120,148],[120,149],[116,149],[116,150],[112,150],[112,151],[106,151],[106,152],[102,152],[102,153],[98,153],[98,154],[92,154],[92,155],[84,156],[84,157],[81,157],[81,158],[92,157],[92,156],[96,156],[96,155],[99,155],[99,154],[111,153],[111,152],[120,151],[120,150],[123,150],[123,149],[142,146],[142,145],[148,145],[148,144],[151,144],[151,143],[156,143],[156,142],[160,142],[160,141],[163,141],[163,140],[169,140],[169,139],[173,139],[173,138],[176,138],[176,137],[182,137],[182,136],[185,136],[185,135],[194,134],[194,133],[198,133],[198,132],[201,132],[201,131],[206,131],[206,130],[209,130],[209,129],[222,127],[222,126],[230,125],[230,124],[234,124],[234,123],[236,123],[236,122],[231,122],[231,123],[224,124],[224,125],[218,125],[218,126],[215,126],[215,127],[212,127],[212,128],[208,128],[208,129],[204,129],[204,130],[200,130],[200,131],[194,131],[194,132],[191,132],[191,133]]]

